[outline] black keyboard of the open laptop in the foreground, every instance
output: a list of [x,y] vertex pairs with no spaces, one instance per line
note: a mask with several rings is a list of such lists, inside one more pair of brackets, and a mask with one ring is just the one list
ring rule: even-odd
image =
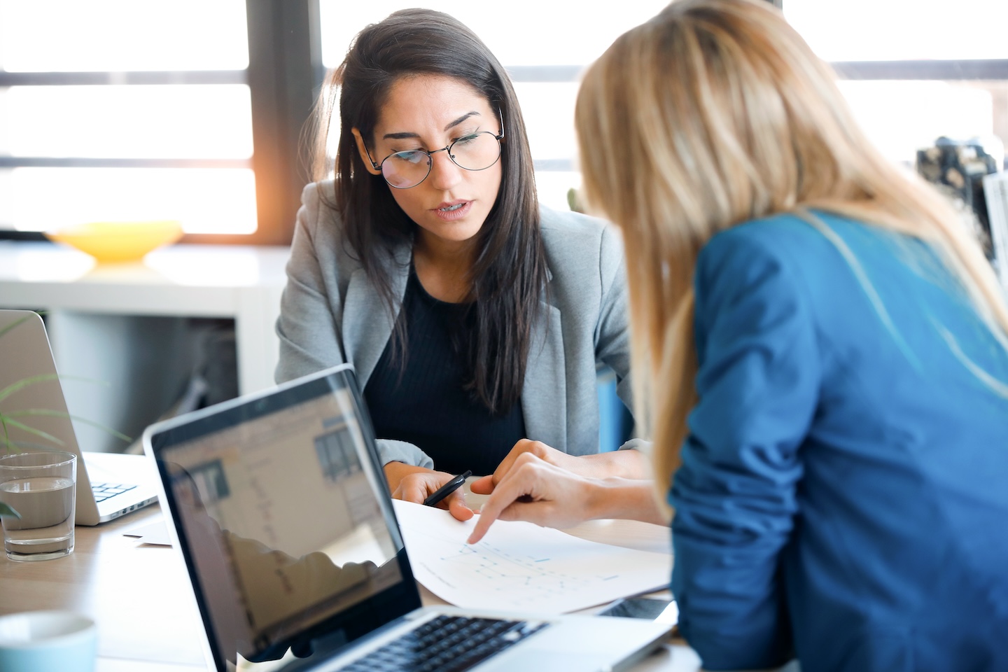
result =
[[462,672],[549,624],[439,616],[343,672]]

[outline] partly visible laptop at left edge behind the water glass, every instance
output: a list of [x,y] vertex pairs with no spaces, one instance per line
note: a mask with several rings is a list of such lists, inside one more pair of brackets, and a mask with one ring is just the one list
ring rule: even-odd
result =
[[27,378],[50,377],[3,396],[0,410],[55,411],[54,415],[15,416],[18,422],[51,438],[8,424],[10,440],[23,449],[56,448],[77,454],[78,525],[98,525],[153,504],[157,500],[156,477],[143,455],[81,451],[55,375],[45,324],[38,313],[0,309],[0,390]]

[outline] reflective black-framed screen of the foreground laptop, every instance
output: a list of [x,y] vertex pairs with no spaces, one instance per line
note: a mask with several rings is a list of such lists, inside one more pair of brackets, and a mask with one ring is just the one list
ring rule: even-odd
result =
[[219,669],[419,606],[349,368],[148,429]]

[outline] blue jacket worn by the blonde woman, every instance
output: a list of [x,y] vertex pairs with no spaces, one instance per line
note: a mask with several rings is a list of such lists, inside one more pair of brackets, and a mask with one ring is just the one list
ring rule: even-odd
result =
[[708,669],[1008,670],[1008,353],[920,241],[820,215],[715,236],[675,508]]

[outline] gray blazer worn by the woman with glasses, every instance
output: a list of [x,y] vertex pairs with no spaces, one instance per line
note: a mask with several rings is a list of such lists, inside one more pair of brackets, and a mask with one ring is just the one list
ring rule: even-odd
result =
[[[333,182],[305,186],[297,211],[276,322],[276,380],[350,362],[363,390],[395,316],[389,315],[360,263],[347,253],[342,223],[322,203],[322,189],[332,197]],[[571,454],[594,453],[599,449],[597,367],[607,365],[616,373],[617,393],[631,407],[622,242],[603,221],[577,213],[543,208],[541,227],[549,286],[532,325],[521,393],[525,431],[528,438]],[[410,255],[408,245],[394,255],[393,286],[400,298]],[[379,440],[379,451],[383,463],[433,465],[426,453],[404,441]]]

